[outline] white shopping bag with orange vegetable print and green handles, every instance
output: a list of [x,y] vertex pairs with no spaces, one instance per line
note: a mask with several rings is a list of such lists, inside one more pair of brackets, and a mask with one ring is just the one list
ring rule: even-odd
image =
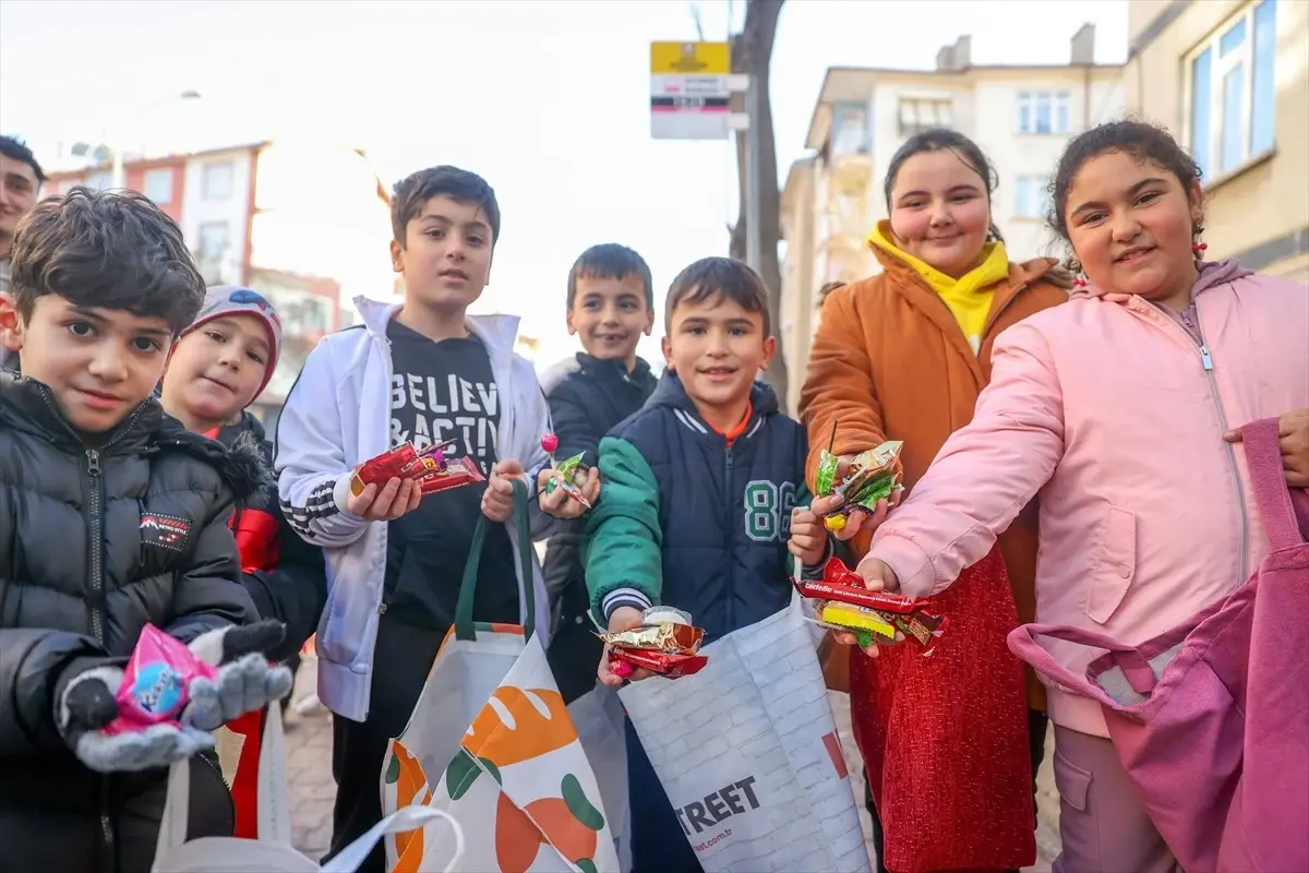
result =
[[381,771],[382,811],[421,804],[454,814],[467,834],[458,868],[448,828],[386,839],[393,873],[618,873],[618,856],[596,776],[531,633],[531,539],[526,490],[514,482],[524,627],[473,620],[487,521],[478,518],[454,627],[432,662],[408,725]]

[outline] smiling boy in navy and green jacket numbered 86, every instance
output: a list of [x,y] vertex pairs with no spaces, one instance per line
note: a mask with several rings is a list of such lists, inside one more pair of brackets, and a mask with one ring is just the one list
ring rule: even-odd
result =
[[[600,444],[586,588],[611,631],[658,602],[719,639],[791,602],[791,554],[813,568],[830,546],[797,509],[808,503],[804,428],[755,382],[776,347],[758,274],[730,258],[692,263],[669,288],[665,331],[654,395]],[[598,674],[622,685],[605,657]],[[627,755],[634,870],[699,870],[631,724]]]

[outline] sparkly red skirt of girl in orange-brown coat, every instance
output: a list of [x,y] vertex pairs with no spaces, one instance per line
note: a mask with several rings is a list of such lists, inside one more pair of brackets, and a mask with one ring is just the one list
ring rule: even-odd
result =
[[1008,870],[1037,860],[1018,614],[1000,551],[931,598],[950,624],[931,657],[914,643],[851,649],[855,742],[895,873]]

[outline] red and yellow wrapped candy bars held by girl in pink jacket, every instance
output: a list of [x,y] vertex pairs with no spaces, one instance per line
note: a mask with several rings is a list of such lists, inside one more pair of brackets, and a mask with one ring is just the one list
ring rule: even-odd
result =
[[861,647],[873,644],[876,636],[894,640],[897,633],[912,639],[929,656],[936,641],[949,626],[949,619],[928,613],[912,597],[890,592],[872,592],[864,580],[833,558],[823,567],[822,580],[791,580],[801,597],[816,601],[821,627],[853,633]]

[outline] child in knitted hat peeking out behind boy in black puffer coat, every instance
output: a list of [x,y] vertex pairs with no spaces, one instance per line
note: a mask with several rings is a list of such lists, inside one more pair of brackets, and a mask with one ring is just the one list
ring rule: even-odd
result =
[[[258,292],[233,285],[211,288],[200,314],[178,338],[164,372],[164,410],[194,433],[226,446],[257,446],[272,466],[272,444],[259,419],[246,407],[268,385],[281,351],[281,321]],[[295,674],[300,648],[314,632],[327,599],[321,548],[301,539],[278,505],[276,488],[232,516],[241,581],[259,615],[285,623],[281,645],[271,658],[288,662]],[[291,698],[281,699],[283,711]],[[250,713],[228,728],[246,738],[241,766],[232,780],[236,836],[257,834],[258,760],[263,713]],[[226,762],[225,762],[226,764]]]

